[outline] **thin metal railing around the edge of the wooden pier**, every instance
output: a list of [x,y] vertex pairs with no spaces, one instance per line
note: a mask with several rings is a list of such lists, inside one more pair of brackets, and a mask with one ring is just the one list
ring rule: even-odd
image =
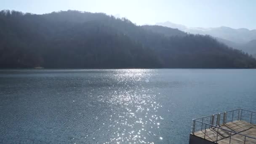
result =
[[[231,144],[232,141],[239,141],[239,144],[253,144],[251,141],[252,139],[253,141],[256,141],[255,137],[241,134],[239,131],[230,130],[230,128],[227,129],[220,127],[220,125],[225,125],[226,123],[237,120],[255,124],[256,112],[248,111],[245,109],[235,109],[228,112],[221,112],[218,114],[193,119],[192,134],[198,134],[201,138],[210,139],[216,143],[222,139],[229,138],[229,142],[227,142],[227,140],[222,142]],[[239,136],[234,137],[234,135]]]

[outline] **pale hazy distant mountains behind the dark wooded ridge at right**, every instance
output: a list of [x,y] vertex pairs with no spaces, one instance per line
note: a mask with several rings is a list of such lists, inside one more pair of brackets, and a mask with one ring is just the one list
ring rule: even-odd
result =
[[224,26],[214,28],[186,27],[181,24],[174,24],[170,21],[157,23],[156,25],[180,29],[191,34],[211,35],[216,37],[221,43],[225,43],[230,47],[241,49],[252,55],[256,54],[256,29],[232,29]]

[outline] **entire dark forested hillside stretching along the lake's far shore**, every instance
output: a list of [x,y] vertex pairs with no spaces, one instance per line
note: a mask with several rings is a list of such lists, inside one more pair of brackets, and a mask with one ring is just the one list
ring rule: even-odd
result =
[[255,68],[210,36],[104,13],[0,12],[0,68]]

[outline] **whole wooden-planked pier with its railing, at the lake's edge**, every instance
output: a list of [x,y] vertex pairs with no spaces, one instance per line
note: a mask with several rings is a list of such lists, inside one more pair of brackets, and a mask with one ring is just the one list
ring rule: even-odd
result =
[[255,118],[255,112],[237,109],[194,119],[189,144],[256,144]]

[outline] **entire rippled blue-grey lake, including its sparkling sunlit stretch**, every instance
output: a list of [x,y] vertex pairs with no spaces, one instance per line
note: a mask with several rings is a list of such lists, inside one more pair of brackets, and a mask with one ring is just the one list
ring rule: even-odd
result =
[[256,69],[0,70],[0,143],[188,144],[193,118],[255,105]]

